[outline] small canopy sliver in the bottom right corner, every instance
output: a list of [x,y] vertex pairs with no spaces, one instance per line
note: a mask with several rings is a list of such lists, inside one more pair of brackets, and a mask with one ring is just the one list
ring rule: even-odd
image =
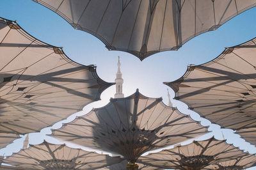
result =
[[232,160],[220,162],[216,165],[204,167],[203,169],[218,169],[218,170],[240,170],[256,165],[256,156],[246,153],[242,157],[237,157]]

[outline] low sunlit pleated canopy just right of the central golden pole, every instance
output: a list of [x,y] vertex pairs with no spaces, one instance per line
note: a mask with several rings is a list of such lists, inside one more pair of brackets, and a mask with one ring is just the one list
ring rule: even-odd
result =
[[138,162],[163,169],[202,169],[205,166],[239,159],[247,155],[225,140],[219,141],[211,137],[205,141],[193,141],[193,143],[177,146],[170,150],[150,153],[140,157]]

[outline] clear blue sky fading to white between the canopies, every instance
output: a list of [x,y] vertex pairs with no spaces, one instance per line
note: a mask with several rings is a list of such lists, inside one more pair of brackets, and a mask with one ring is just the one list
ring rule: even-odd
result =
[[[118,56],[121,61],[123,73],[123,92],[125,97],[140,89],[140,93],[147,97],[163,97],[163,102],[168,104],[167,88],[170,95],[174,92],[163,82],[179,79],[186,72],[187,65],[200,65],[216,58],[224,50],[224,47],[232,47],[255,38],[256,8],[252,8],[229,20],[216,31],[210,31],[196,36],[185,43],[177,51],[166,51],[154,54],[143,61],[126,52],[108,51],[104,43],[96,37],[83,31],[75,30],[59,15],[29,0],[0,0],[0,17],[9,20],[17,20],[18,24],[42,42],[57,47],[63,47],[68,58],[83,65],[97,65],[97,73],[101,79],[108,82],[115,81]],[[86,114],[92,107],[102,107],[109,102],[109,98],[115,94],[115,86],[106,89],[101,95],[102,100],[84,107],[82,112],[70,116],[67,121],[73,120],[77,115]],[[238,146],[241,150],[256,153],[255,146],[244,142],[233,130],[222,129],[212,125],[210,121],[200,118],[198,114],[189,111],[186,104],[172,100],[173,106],[184,114],[191,114],[195,120],[201,121],[204,126],[210,126],[210,134],[201,137],[207,139],[215,135],[216,139],[227,139],[227,143]],[[61,123],[56,123],[52,128],[60,128]],[[48,137],[51,128],[45,128],[40,133],[30,135],[29,143],[39,144],[44,139],[50,143],[59,143],[58,140]],[[0,155],[12,155],[22,148],[24,136],[13,144],[0,150]],[[74,145],[68,145],[75,147]],[[80,146],[76,146],[80,147]],[[256,168],[255,168],[256,169]]]

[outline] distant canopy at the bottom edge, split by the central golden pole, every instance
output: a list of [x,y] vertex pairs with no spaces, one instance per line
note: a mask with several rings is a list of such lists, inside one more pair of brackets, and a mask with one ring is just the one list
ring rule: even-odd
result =
[[[113,165],[108,166],[108,167],[102,167],[98,170],[106,170],[106,169],[109,169],[109,170],[127,170],[126,169],[127,164],[128,164],[128,160],[123,160],[122,162],[120,162],[118,164],[113,164]],[[147,165],[140,164],[140,163],[136,163],[136,164],[138,164],[138,166],[139,166],[138,170],[162,170],[162,169],[159,169],[158,167],[147,166]]]

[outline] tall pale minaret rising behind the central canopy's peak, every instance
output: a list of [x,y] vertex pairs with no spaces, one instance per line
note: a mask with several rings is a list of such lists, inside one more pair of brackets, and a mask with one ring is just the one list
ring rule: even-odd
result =
[[123,94],[123,83],[124,80],[122,79],[122,73],[120,71],[120,57],[118,56],[118,63],[117,63],[118,69],[117,69],[117,73],[116,73],[116,79],[115,79],[115,83],[116,83],[116,93],[115,93],[115,98],[124,98],[124,94]]

